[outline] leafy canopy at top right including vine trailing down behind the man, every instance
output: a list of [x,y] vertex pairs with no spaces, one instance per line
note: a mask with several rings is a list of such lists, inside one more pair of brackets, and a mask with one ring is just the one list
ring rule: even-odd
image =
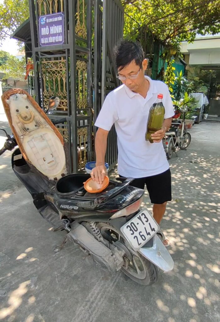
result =
[[220,31],[220,0],[122,0],[122,3],[124,36],[139,40],[151,59],[154,40],[160,42],[163,65],[157,78],[165,81],[172,92],[173,60],[181,58],[180,42],[192,42],[197,33]]

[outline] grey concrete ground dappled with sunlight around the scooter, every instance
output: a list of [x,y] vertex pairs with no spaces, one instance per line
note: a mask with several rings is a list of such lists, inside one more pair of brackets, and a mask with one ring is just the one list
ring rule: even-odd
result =
[[[187,151],[170,160],[173,201],[161,225],[175,267],[151,287],[98,269],[71,242],[55,253],[64,232],[52,232],[38,214],[12,172],[11,153],[1,156],[0,319],[219,322],[220,127],[202,123],[191,134]],[[145,204],[151,209],[147,194]]]

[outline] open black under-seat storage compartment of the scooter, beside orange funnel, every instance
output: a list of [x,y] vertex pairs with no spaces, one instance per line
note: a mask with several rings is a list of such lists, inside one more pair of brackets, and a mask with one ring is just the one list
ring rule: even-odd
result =
[[88,174],[71,174],[61,178],[56,185],[58,194],[71,194],[83,188],[84,182],[90,178]]

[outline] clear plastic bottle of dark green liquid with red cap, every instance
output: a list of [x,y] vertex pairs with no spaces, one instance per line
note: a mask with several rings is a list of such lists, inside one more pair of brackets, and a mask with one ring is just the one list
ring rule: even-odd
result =
[[145,140],[153,143],[151,134],[159,131],[162,128],[165,108],[162,103],[163,94],[157,95],[157,100],[150,108],[147,122],[147,131],[145,133]]

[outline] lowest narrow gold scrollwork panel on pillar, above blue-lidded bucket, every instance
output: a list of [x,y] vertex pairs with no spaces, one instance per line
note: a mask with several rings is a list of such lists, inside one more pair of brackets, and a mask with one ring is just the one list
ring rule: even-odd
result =
[[87,128],[78,128],[78,168],[82,169],[87,163]]

